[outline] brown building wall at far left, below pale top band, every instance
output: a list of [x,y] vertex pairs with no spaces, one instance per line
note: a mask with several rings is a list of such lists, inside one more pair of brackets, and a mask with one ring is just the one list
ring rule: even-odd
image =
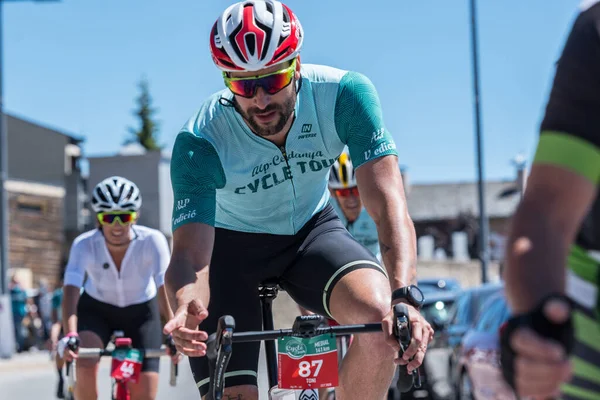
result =
[[[31,276],[27,287],[46,278],[51,287],[58,283],[63,266],[64,230],[61,187],[23,181],[7,181],[9,215],[9,265],[13,271]],[[29,273],[30,272],[30,273]]]

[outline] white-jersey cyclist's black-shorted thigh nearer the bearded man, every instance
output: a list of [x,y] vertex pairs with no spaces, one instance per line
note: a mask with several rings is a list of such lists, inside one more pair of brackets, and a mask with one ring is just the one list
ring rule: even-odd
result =
[[[135,348],[158,349],[162,344],[162,326],[156,297],[118,310],[121,318],[113,321],[114,330],[123,330]],[[158,372],[159,358],[144,358],[142,372]]]

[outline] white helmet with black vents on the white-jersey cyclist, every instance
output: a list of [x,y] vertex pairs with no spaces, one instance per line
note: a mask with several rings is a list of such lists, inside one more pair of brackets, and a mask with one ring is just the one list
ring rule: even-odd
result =
[[129,179],[111,176],[96,185],[92,191],[94,212],[138,211],[142,206],[140,189]]

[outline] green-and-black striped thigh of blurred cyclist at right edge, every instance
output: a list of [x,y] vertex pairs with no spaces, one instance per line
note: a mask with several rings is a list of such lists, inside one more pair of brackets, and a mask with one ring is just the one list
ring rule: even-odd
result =
[[600,399],[600,322],[592,310],[576,304],[576,343],[571,382],[562,387],[563,400]]

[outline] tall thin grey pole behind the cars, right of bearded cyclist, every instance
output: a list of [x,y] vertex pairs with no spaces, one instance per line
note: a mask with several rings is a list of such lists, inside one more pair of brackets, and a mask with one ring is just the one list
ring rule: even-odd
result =
[[488,281],[489,227],[485,211],[485,188],[483,181],[483,151],[481,145],[481,113],[479,107],[479,63],[477,56],[477,10],[471,0],[471,49],[473,56],[473,95],[475,107],[475,135],[477,142],[477,189],[479,196],[479,257],[481,260],[481,282]]

